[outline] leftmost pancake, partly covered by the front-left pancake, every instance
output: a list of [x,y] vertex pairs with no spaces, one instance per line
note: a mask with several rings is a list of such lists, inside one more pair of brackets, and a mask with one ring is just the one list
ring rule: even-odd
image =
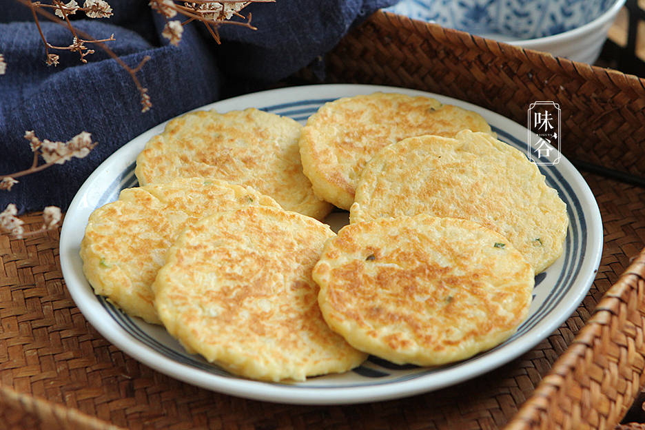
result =
[[150,285],[181,230],[216,211],[248,205],[280,207],[274,199],[212,178],[127,188],[90,215],[81,241],[83,273],[96,294],[127,314],[161,324]]

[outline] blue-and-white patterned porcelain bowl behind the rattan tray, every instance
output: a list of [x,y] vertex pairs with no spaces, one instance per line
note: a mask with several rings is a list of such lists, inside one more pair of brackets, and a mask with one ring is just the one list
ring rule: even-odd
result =
[[625,0],[401,0],[387,12],[593,63]]

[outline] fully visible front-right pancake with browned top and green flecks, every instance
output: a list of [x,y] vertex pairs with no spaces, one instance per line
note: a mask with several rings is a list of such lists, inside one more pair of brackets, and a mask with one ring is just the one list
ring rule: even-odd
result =
[[421,366],[509,338],[528,315],[534,283],[504,237],[427,214],[343,227],[312,276],[331,329],[357,349]]

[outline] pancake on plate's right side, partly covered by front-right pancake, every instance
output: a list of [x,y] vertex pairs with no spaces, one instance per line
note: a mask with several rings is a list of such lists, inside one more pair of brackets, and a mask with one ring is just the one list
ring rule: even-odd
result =
[[475,221],[509,239],[540,273],[564,249],[566,205],[522,152],[489,134],[418,136],[367,163],[350,222],[427,213]]

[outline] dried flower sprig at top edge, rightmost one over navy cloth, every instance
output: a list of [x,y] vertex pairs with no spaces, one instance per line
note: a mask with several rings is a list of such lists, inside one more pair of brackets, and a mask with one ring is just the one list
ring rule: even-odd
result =
[[[275,0],[193,0],[193,1],[176,1],[176,0],[150,0],[150,7],[163,15],[166,25],[161,35],[170,39],[170,43],[178,45],[181,41],[181,27],[192,21],[201,21],[217,43],[221,43],[218,27],[222,24],[242,25],[243,27],[257,30],[251,25],[251,14],[248,18],[240,14],[240,10],[246,8],[251,3],[269,3]],[[181,14],[186,20],[181,22],[173,19]],[[229,21],[232,17],[239,17],[245,21]]]

